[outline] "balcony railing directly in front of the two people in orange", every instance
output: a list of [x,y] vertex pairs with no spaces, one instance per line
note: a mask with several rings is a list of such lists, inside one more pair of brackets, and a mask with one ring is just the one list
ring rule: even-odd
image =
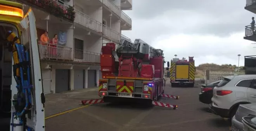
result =
[[40,59],[44,60],[72,60],[72,48],[61,45],[38,42]]

